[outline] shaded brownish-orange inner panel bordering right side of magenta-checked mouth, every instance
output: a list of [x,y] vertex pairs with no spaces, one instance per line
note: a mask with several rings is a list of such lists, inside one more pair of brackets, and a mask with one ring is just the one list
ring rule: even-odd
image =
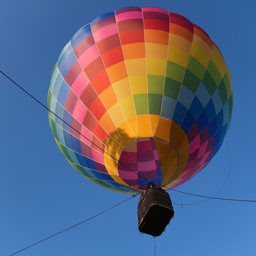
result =
[[166,181],[168,181],[168,184],[170,181],[170,177],[172,177],[177,170],[177,152],[173,150],[168,142],[155,139],[155,144],[163,175],[162,184]]

